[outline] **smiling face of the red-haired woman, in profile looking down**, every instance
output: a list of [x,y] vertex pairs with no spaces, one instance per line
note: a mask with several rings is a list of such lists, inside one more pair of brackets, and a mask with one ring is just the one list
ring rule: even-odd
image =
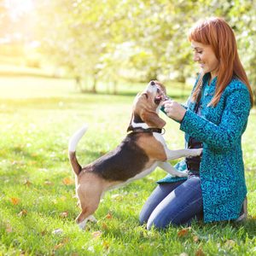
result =
[[212,78],[216,77],[219,62],[212,47],[195,41],[191,41],[191,47],[194,49],[194,61],[200,64],[202,72],[211,73]]

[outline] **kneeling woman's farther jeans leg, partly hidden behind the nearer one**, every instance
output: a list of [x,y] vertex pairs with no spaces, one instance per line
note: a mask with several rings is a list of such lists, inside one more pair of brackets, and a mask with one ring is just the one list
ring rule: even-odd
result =
[[163,199],[169,195],[173,189],[176,189],[180,184],[185,180],[179,181],[177,183],[163,183],[158,185],[152,194],[148,197],[148,200],[145,202],[143,209],[140,213],[140,223],[144,224],[148,222],[148,218],[151,213],[154,211],[154,208],[157,207]]

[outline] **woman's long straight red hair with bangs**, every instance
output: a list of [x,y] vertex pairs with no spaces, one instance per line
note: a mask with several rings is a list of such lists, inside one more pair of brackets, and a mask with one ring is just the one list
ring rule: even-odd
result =
[[[209,106],[215,107],[218,104],[224,89],[234,77],[247,85],[251,97],[251,105],[253,106],[253,91],[239,59],[235,34],[228,23],[221,18],[203,20],[189,31],[189,41],[211,45],[219,61],[216,90]],[[194,101],[200,94],[201,83],[202,75],[192,95],[192,100]]]

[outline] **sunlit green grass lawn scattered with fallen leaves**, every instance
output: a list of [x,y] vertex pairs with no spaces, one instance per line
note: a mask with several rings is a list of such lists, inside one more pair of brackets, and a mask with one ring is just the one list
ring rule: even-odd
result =
[[[5,78],[0,84],[0,255],[256,255],[255,109],[242,140],[251,215],[245,224],[192,224],[185,236],[179,236],[183,227],[145,230],[139,212],[154,181],[166,175],[157,169],[106,193],[98,222],[81,231],[74,223],[74,184],[63,183],[73,179],[68,137],[90,125],[78,147],[84,165],[113,149],[125,137],[133,97],[144,85],[126,85],[121,96],[111,96],[81,95],[68,80]],[[180,95],[172,85],[167,90]],[[183,133],[171,120],[165,137],[169,148],[183,148]],[[53,233],[57,229],[61,234]]]

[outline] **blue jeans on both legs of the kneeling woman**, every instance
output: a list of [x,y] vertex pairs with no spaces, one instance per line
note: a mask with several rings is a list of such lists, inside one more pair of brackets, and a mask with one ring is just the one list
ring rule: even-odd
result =
[[147,229],[157,229],[169,224],[190,224],[193,218],[201,218],[203,202],[201,179],[191,176],[177,183],[163,183],[154,189],[140,213],[140,223]]

